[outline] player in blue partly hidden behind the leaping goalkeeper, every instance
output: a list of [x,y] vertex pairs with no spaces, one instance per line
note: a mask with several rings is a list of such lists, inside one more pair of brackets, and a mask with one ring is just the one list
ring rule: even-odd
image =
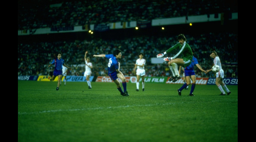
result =
[[[195,50],[192,48],[192,54],[194,55]],[[184,68],[184,75],[186,78],[186,83],[184,83],[177,91],[178,91],[178,95],[181,95],[181,91],[186,88],[187,86],[189,86],[190,79],[192,80],[192,86],[191,86],[191,90],[189,93],[189,96],[194,96],[193,95],[193,91],[195,90],[196,87],[196,74],[194,71],[194,66],[196,65],[197,68],[199,68],[199,70],[203,71],[204,73],[206,73],[205,70],[202,69],[202,67],[198,64],[197,59],[193,56],[192,60],[191,60],[191,64],[187,67]]]

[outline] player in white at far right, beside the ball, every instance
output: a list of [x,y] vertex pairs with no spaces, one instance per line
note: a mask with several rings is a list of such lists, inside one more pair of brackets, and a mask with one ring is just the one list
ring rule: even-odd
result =
[[[227,88],[226,84],[224,82],[222,82],[222,79],[224,78],[224,71],[221,68],[221,60],[219,59],[217,52],[212,51],[210,54],[210,57],[214,59],[213,60],[214,65],[218,65],[220,67],[220,70],[218,72],[216,72],[216,82],[215,82],[215,84],[218,86],[219,90],[221,90],[220,95],[226,95],[223,88],[227,91],[227,95],[229,95],[231,92]],[[210,72],[211,70],[212,69],[206,70],[206,73]]]

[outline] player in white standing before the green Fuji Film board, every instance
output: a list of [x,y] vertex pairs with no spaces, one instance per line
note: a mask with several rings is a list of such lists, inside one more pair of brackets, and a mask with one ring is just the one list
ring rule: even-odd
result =
[[146,72],[145,72],[145,69],[144,69],[145,63],[146,63],[146,60],[143,59],[143,53],[140,53],[139,54],[139,59],[136,60],[135,67],[133,69],[135,71],[135,69],[137,68],[137,70],[136,70],[136,75],[137,75],[136,91],[139,91],[140,76],[141,76],[141,79],[142,79],[142,91],[144,91],[144,89],[145,89],[145,81],[144,81],[144,77],[146,75]]

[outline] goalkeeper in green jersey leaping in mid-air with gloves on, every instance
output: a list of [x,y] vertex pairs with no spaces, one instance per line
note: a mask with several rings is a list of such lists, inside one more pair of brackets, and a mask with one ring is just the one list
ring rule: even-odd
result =
[[163,57],[163,55],[172,52],[173,50],[178,49],[178,53],[173,57],[164,58],[164,61],[168,61],[168,66],[172,72],[171,78],[169,81],[176,82],[180,79],[180,74],[178,71],[178,66],[187,67],[191,64],[193,58],[191,47],[186,43],[187,39],[183,34],[178,35],[178,43],[170,47],[165,52],[158,54],[157,58]]

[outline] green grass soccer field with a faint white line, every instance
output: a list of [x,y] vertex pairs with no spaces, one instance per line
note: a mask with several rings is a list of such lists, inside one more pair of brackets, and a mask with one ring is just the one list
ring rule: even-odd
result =
[[[18,142],[237,142],[238,86],[18,80]],[[123,88],[123,87],[122,87]]]

